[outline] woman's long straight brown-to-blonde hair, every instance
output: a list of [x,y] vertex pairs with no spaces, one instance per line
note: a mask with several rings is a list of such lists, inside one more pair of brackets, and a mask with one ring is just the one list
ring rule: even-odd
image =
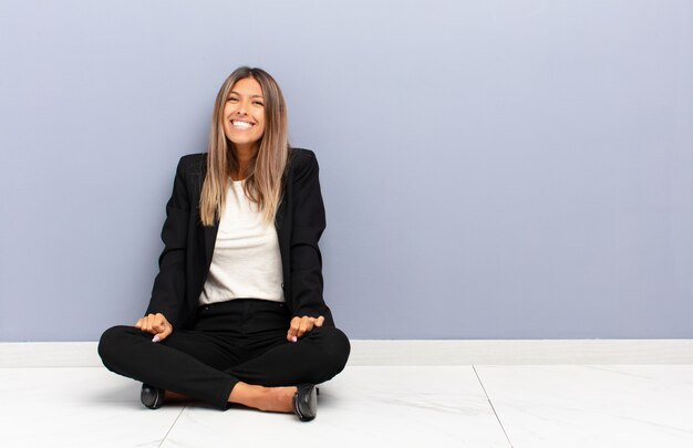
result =
[[231,173],[238,173],[239,164],[234,144],[224,133],[224,106],[234,85],[246,77],[256,80],[265,98],[265,132],[257,155],[245,173],[246,196],[256,202],[266,223],[275,220],[281,201],[282,177],[289,156],[287,105],[279,85],[261,69],[241,66],[231,73],[217,94],[211,114],[209,144],[207,147],[207,175],[199,197],[199,212],[204,226],[214,226],[220,219],[226,202],[226,191]]

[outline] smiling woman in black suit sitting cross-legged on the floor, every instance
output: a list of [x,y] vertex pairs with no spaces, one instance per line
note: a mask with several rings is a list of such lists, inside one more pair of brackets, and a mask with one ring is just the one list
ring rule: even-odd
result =
[[208,152],[178,163],[146,315],[101,337],[104,365],[157,408],[180,395],[311,420],[349,340],[322,298],[324,208],[312,152],[290,148],[277,82],[221,85]]

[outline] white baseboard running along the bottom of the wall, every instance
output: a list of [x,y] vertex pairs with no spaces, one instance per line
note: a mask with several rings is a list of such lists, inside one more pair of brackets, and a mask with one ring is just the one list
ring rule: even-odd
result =
[[[349,365],[693,364],[693,340],[352,341]],[[0,343],[2,367],[100,367],[95,342]]]

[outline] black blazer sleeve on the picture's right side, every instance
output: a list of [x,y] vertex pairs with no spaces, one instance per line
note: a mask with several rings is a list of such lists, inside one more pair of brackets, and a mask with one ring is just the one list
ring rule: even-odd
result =
[[291,294],[294,316],[324,315],[332,321],[322,291],[322,256],[318,241],[325,228],[320,191],[319,166],[314,154],[304,150],[293,177],[292,229],[290,244]]

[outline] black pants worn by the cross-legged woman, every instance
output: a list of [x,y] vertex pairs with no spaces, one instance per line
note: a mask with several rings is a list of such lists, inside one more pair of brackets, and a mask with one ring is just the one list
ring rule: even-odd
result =
[[238,382],[262,386],[319,384],[340,373],[349,340],[333,326],[287,341],[283,303],[242,299],[200,306],[192,331],[159,343],[134,326],[114,326],[99,342],[112,372],[226,409]]

